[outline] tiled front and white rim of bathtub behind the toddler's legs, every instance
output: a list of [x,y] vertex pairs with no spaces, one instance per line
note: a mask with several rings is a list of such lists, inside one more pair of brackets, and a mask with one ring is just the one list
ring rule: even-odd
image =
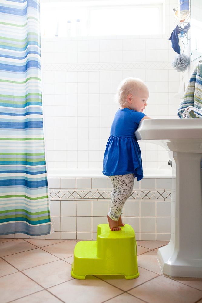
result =
[[[171,170],[170,170],[171,171]],[[137,240],[169,240],[171,222],[171,172],[164,175],[145,169],[145,178],[135,180],[131,196],[124,205],[123,220],[135,231]],[[49,178],[50,210],[55,232],[27,238],[95,240],[97,225],[107,223],[112,184],[97,172],[86,175],[73,170]],[[151,174],[153,173],[153,174]],[[58,175],[62,178],[58,178]],[[154,176],[157,176],[154,177]],[[55,178],[52,178],[54,177]],[[15,238],[26,235],[16,234]],[[9,235],[13,237],[14,235]],[[8,235],[7,235],[8,238]]]

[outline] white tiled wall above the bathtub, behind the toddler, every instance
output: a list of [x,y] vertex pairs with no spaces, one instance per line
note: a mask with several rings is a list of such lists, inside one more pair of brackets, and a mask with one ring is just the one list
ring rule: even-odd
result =
[[[173,2],[173,4],[172,4]],[[113,98],[127,76],[146,82],[151,118],[177,118],[180,74],[168,41],[174,29],[166,1],[166,34],[42,39],[43,104],[48,167],[101,168],[118,105]],[[143,166],[167,165],[163,148],[140,142]]]

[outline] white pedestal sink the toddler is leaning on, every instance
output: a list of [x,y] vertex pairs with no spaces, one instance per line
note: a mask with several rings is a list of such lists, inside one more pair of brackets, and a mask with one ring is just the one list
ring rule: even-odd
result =
[[171,240],[157,253],[162,271],[202,277],[202,119],[146,119],[135,135],[172,156]]

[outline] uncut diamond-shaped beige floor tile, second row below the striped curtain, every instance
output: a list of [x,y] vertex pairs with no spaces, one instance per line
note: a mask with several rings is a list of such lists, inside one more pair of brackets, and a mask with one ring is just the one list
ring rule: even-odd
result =
[[30,251],[20,252],[15,255],[3,257],[10,264],[19,270],[28,269],[38,265],[46,264],[49,262],[57,261],[58,258],[42,250],[41,248],[33,249]]

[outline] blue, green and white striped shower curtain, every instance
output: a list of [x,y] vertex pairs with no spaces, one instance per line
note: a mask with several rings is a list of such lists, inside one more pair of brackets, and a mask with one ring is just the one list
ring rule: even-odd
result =
[[39,1],[0,1],[0,235],[53,232],[45,162]]

